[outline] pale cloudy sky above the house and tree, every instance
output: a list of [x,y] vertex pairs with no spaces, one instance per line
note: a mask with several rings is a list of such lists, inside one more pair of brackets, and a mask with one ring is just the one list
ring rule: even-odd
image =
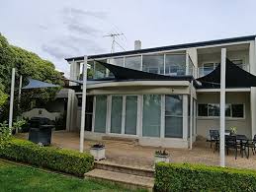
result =
[[69,76],[67,57],[256,34],[255,0],[0,0],[0,32]]

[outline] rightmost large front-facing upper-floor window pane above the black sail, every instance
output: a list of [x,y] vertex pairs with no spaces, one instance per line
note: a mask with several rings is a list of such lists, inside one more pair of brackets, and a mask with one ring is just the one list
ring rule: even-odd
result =
[[166,54],[165,56],[165,75],[185,75],[186,55],[185,54]]

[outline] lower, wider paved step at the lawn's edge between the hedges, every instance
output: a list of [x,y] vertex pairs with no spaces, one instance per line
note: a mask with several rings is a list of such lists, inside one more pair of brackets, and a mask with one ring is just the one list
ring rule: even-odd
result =
[[147,191],[153,191],[154,187],[154,178],[152,177],[138,176],[98,168],[85,173],[84,176],[85,178],[117,183],[128,189],[146,189]]

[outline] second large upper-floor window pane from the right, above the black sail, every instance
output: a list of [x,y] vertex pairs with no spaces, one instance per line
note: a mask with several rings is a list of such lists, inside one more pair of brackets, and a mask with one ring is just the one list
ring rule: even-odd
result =
[[156,74],[164,74],[164,55],[143,55],[142,71]]

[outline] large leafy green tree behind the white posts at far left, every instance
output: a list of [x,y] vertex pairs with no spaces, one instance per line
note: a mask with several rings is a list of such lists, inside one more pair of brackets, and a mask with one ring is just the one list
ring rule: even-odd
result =
[[[56,85],[63,85],[62,74],[55,70],[53,63],[42,59],[37,54],[27,51],[23,48],[13,46],[8,43],[7,39],[0,33],[0,121],[7,119],[8,115],[8,96],[10,95],[12,68],[16,68],[16,91],[15,106],[17,107],[17,96],[19,86],[19,76],[22,75],[24,84],[28,77],[41,80],[43,82]],[[58,89],[40,89],[22,92],[21,109],[28,110],[31,107],[32,100],[36,104],[43,105],[52,100]],[[14,110],[17,115],[18,110]]]

